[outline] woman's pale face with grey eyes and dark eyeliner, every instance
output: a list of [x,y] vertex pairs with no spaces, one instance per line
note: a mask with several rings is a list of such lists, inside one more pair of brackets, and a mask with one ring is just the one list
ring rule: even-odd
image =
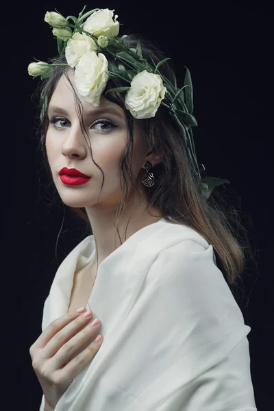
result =
[[[74,85],[73,71],[69,71],[68,74]],[[121,160],[126,151],[128,138],[125,112],[119,105],[103,96],[98,107],[84,99],[80,101],[83,105],[84,125],[88,132],[93,159],[105,176],[101,195],[103,175],[90,156],[90,149],[75,110],[74,93],[64,75],[53,92],[48,110],[46,149],[53,182],[67,206],[79,208],[97,203],[115,206],[122,194]],[[141,129],[135,125],[132,155],[132,173],[135,181],[148,153],[149,147],[142,137]],[[63,167],[77,169],[92,178],[86,184],[66,185],[59,175]],[[142,169],[142,174],[144,173],[145,169]]]

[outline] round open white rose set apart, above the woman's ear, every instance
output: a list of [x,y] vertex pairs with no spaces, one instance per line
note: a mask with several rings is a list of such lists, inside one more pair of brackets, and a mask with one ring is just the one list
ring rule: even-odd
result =
[[144,70],[132,79],[130,86],[125,95],[127,110],[135,119],[154,117],[166,93],[160,75]]

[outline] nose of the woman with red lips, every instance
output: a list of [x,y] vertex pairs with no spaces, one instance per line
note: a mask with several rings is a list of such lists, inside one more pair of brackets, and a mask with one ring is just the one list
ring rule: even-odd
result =
[[85,158],[86,153],[87,143],[81,125],[77,124],[70,127],[64,138],[62,154],[69,158]]

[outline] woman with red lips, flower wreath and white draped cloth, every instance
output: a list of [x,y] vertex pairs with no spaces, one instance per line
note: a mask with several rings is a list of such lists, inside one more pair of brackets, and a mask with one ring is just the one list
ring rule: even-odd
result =
[[83,11],[47,12],[60,56],[29,65],[53,183],[92,229],[29,350],[40,411],[254,411],[251,328],[230,289],[245,255],[197,167],[190,73],[179,92],[155,45]]

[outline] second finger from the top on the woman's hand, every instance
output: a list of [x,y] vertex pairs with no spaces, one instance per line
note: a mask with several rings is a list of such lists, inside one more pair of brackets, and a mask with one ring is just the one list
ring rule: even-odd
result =
[[[87,313],[87,312],[86,312]],[[55,353],[59,351],[59,349],[66,344],[75,334],[79,334],[79,332],[85,327],[90,320],[92,320],[93,314],[90,312],[90,316],[84,317],[83,314],[78,316],[74,321],[68,323],[64,328],[60,329],[53,338],[47,343],[44,349],[40,353],[40,358],[42,360],[46,360],[47,358],[52,358],[55,356]]]

